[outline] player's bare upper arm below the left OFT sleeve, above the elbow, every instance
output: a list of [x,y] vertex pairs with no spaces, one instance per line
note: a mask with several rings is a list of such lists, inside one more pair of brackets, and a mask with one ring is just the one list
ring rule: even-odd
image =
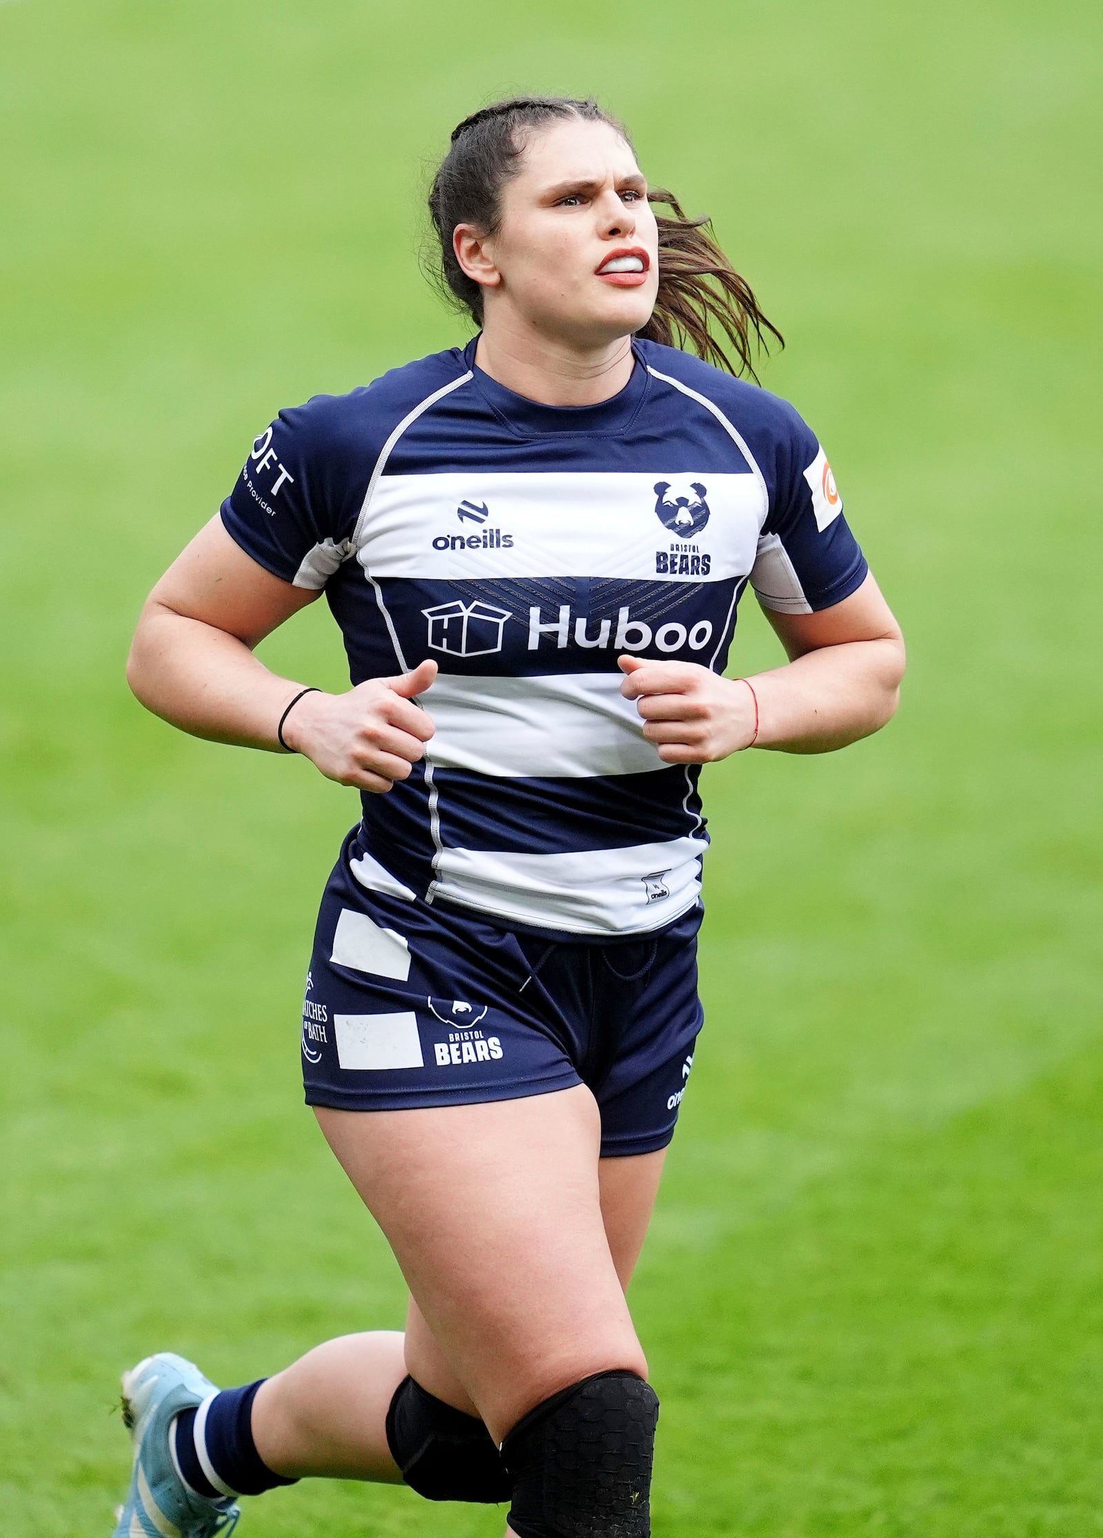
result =
[[149,594],[145,614],[168,609],[255,646],[317,597],[246,555],[215,514]]

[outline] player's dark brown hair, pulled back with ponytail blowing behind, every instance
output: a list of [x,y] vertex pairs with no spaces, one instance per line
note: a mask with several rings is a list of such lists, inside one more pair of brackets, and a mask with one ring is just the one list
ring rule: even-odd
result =
[[[631,146],[623,123],[592,98],[511,97],[480,108],[452,129],[449,151],[429,189],[429,217],[438,241],[431,271],[440,291],[477,326],[483,323],[483,289],[457,261],[452,231],[457,225],[474,225],[494,234],[502,223],[502,188],[520,169],[528,135],[571,117],[608,123]],[[706,217],[688,218],[674,194],[663,188],[652,188],[648,200],[671,214],[655,214],[658,294],[638,335],[691,348],[708,363],[757,380],[752,354],[768,351],[765,332],[785,346],[781,332],[763,315],[749,283],[717,245]]]

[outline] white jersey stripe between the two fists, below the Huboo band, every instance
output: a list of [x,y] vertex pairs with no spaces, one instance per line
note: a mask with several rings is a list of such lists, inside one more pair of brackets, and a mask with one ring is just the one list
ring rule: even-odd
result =
[[537,678],[438,674],[420,698],[437,727],[426,763],[488,778],[569,778],[663,769],[618,672]]

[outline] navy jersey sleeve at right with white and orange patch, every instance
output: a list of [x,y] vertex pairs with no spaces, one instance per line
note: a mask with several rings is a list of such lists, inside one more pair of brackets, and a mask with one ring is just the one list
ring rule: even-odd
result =
[[763,466],[769,512],[751,583],[766,609],[815,614],[849,598],[869,568],[843,517],[843,498],[815,434],[788,401],[778,406],[783,415],[774,461]]

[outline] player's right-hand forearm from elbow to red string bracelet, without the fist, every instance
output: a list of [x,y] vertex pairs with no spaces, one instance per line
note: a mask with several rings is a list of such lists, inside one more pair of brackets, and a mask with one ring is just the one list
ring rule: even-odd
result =
[[754,746],[826,754],[869,737],[894,715],[903,671],[903,643],[886,637],[823,646],[783,667],[754,674]]

